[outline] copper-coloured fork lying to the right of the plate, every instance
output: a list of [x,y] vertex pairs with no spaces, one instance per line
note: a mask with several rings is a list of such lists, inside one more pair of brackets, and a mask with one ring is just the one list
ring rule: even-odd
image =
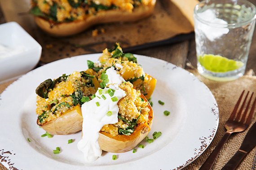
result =
[[250,125],[250,123],[252,121],[252,116],[254,114],[256,98],[254,99],[254,102],[252,104],[249,115],[247,116],[247,112],[249,111],[250,104],[251,104],[252,97],[253,97],[254,93],[252,93],[252,95],[249,99],[249,102],[247,103],[247,106],[246,106],[245,110],[243,111],[244,106],[247,101],[247,98],[248,98],[248,95],[249,95],[249,91],[247,92],[246,97],[243,101],[243,104],[238,111],[238,107],[240,105],[240,102],[242,101],[244,92],[245,92],[245,90],[243,90],[236,105],[234,106],[234,110],[231,113],[230,118],[225,123],[226,133],[224,134],[224,136],[222,137],[219,144],[216,146],[216,148],[213,150],[211,155],[207,158],[207,160],[203,163],[203,165],[201,166],[201,168],[199,170],[211,170],[212,166],[214,164],[214,161],[216,160],[217,156],[219,155],[225,142],[229,139],[230,135],[235,132],[243,132]]

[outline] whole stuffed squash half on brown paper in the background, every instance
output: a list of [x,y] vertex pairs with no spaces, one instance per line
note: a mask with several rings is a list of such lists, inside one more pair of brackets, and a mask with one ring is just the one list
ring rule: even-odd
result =
[[154,5],[155,0],[32,0],[30,13],[45,32],[68,36],[96,24],[137,21]]

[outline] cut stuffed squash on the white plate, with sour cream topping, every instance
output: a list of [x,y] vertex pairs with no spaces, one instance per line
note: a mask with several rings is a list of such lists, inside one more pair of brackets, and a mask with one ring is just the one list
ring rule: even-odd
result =
[[94,156],[85,154],[92,155],[88,161],[100,157],[102,150],[133,149],[147,136],[153,120],[147,99],[156,80],[143,71],[137,58],[123,53],[116,43],[98,61],[88,60],[87,70],[47,79],[36,88],[37,124],[53,135],[82,130],[79,149],[97,150]]

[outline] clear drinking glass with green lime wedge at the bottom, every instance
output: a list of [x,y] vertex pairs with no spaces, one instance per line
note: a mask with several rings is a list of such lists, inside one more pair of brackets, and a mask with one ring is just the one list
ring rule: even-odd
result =
[[197,67],[202,76],[231,81],[243,76],[255,27],[247,0],[204,0],[194,9]]

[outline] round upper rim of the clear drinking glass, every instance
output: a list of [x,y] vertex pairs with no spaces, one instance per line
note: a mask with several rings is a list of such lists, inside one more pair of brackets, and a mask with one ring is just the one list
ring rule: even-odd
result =
[[254,21],[256,19],[256,6],[254,4],[252,4],[251,2],[247,1],[247,0],[238,0],[238,1],[242,1],[248,5],[250,5],[253,9],[254,9],[254,15],[253,17],[245,20],[245,21],[242,21],[242,22],[236,22],[236,23],[232,23],[232,24],[223,24],[223,23],[216,23],[216,22],[211,22],[211,21],[207,21],[207,20],[204,20],[203,18],[199,17],[198,16],[198,9],[199,9],[199,5],[200,4],[203,4],[206,2],[206,0],[203,0],[201,2],[199,2],[198,4],[195,5],[194,7],[194,16],[199,20],[201,21],[202,23],[204,24],[207,24],[207,25],[214,25],[215,27],[218,27],[218,26],[221,26],[222,28],[226,28],[226,27],[230,27],[230,26],[241,26],[241,25],[246,25],[252,21]]

